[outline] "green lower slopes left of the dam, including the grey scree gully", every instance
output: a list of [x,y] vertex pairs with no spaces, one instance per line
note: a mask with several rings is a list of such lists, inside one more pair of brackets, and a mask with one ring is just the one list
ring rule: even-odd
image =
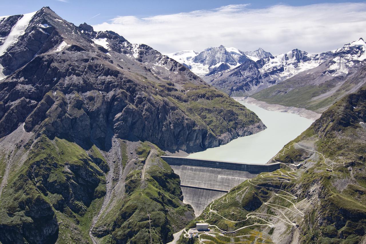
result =
[[166,243],[194,217],[151,143],[116,140],[106,152],[22,128],[11,136],[13,148],[0,142],[1,243]]

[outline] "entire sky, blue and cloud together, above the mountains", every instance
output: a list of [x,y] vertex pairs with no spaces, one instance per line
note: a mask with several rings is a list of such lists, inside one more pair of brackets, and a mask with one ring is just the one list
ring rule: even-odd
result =
[[0,16],[49,6],[61,18],[112,30],[167,54],[224,45],[273,55],[298,48],[315,54],[366,40],[366,1],[12,0]]

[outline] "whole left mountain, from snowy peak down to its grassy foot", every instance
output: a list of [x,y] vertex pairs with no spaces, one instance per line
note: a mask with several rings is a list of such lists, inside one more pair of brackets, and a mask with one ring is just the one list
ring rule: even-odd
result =
[[193,211],[164,162],[142,180],[149,152],[265,128],[175,60],[47,7],[2,18],[0,37],[2,243],[171,240]]

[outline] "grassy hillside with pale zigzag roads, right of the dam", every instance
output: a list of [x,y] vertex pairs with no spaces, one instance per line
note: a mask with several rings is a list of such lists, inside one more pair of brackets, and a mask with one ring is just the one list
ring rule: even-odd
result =
[[233,188],[186,227],[206,222],[212,233],[180,243],[363,243],[365,123],[363,87],[285,145],[272,160],[281,169]]

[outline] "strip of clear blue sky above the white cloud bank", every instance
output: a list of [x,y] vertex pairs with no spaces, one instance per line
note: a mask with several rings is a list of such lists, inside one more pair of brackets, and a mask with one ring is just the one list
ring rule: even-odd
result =
[[[95,25],[108,21],[116,16],[134,15],[147,17],[153,15],[176,14],[194,10],[219,8],[230,4],[250,4],[248,8],[266,8],[276,4],[292,6],[317,3],[362,2],[357,0],[12,0],[1,3],[0,16],[25,14],[49,6],[62,18],[76,25],[87,22]],[[94,18],[93,16],[100,14]]]

